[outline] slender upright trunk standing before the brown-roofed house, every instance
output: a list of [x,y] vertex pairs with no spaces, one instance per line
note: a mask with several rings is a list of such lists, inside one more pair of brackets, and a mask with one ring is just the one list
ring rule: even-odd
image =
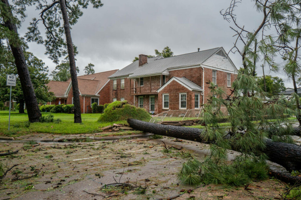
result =
[[61,6],[62,17],[64,20],[64,29],[65,29],[69,63],[70,63],[70,74],[71,74],[73,104],[74,104],[74,123],[81,123],[82,117],[81,117],[81,109],[80,109],[80,101],[79,101],[79,89],[78,89],[78,82],[77,82],[74,49],[72,44],[72,37],[70,32],[70,25],[69,25],[65,0],[60,0],[60,6]]

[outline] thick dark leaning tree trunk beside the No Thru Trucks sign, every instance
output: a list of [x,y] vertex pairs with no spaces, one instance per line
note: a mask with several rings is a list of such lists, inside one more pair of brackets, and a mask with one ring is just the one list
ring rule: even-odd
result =
[[5,25],[12,32],[11,37],[9,38],[9,45],[11,47],[11,52],[13,53],[13,56],[15,58],[15,64],[20,78],[23,96],[27,106],[28,119],[29,122],[39,122],[39,119],[42,116],[42,114],[39,109],[39,104],[36,98],[35,91],[33,89],[33,84],[30,79],[23,48],[21,46],[22,43],[17,32],[17,26],[13,22],[13,14],[11,12],[8,0],[1,1],[7,6],[8,14],[11,16],[7,17],[5,14],[3,14],[3,12],[1,12],[2,17],[5,19]]

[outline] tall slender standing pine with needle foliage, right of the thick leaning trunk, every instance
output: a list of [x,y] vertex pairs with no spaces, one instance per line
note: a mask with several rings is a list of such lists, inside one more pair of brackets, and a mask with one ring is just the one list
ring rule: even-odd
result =
[[[30,23],[26,38],[28,41],[34,41],[44,44],[46,47],[46,54],[49,55],[55,63],[59,62],[59,58],[68,54],[70,64],[70,75],[73,88],[73,103],[74,103],[74,123],[82,122],[79,89],[77,82],[76,64],[74,58],[74,48],[70,32],[70,26],[77,23],[79,17],[83,12],[81,8],[87,8],[91,3],[93,8],[100,8],[103,6],[100,0],[57,0],[48,3],[46,0],[16,0],[23,5],[36,5],[37,10],[40,10],[39,18],[33,18]],[[63,24],[61,23],[63,19]],[[41,32],[39,31],[39,22],[42,22],[46,28],[46,39],[43,40]],[[66,41],[63,39],[65,34]]]

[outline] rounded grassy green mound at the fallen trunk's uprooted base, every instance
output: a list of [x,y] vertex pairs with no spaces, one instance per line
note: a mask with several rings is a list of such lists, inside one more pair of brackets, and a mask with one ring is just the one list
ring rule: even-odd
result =
[[104,113],[98,118],[98,122],[115,122],[128,118],[149,121],[151,115],[145,109],[132,106],[127,101],[115,101],[107,105]]

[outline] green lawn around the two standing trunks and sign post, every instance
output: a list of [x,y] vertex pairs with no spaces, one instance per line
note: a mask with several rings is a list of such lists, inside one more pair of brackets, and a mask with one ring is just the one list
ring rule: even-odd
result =
[[54,115],[54,119],[60,118],[60,123],[31,123],[26,127],[28,121],[27,113],[19,114],[11,112],[11,128],[8,131],[8,111],[0,111],[0,135],[17,137],[30,133],[51,133],[51,134],[82,134],[82,133],[98,133],[101,128],[113,123],[125,124],[126,121],[120,122],[97,122],[100,114],[82,114],[82,123],[73,123],[73,114],[67,113],[49,113],[42,112],[42,115]]

